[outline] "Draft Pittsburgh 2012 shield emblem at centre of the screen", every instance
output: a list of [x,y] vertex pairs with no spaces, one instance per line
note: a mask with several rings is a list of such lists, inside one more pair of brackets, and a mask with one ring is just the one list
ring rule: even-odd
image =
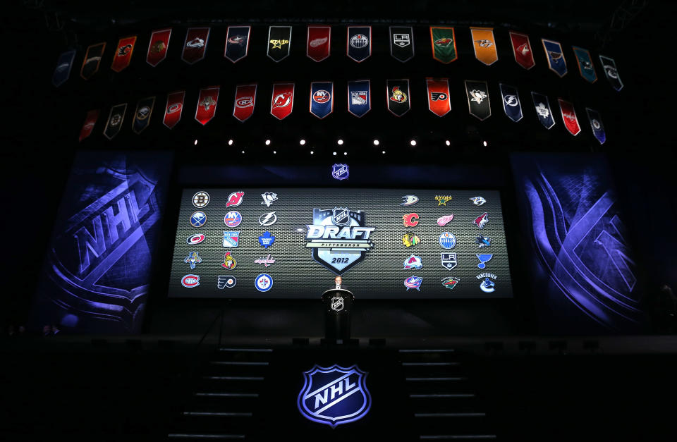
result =
[[307,228],[305,247],[312,250],[312,258],[337,275],[352,269],[373,247],[369,237],[374,227],[365,227],[362,210],[312,209],[312,224]]

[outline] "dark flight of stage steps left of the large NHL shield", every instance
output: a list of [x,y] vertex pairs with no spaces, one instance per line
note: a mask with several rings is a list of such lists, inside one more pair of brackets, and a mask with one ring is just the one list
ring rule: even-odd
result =
[[218,348],[194,380],[191,399],[171,419],[170,439],[243,439],[260,407],[268,348]]

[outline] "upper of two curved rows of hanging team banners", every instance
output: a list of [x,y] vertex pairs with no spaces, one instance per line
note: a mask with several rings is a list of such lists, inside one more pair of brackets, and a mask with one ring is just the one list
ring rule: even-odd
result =
[[[209,27],[190,27],[186,31],[181,51],[181,59],[188,64],[194,64],[205,58],[207,44],[209,43]],[[226,30],[226,43],[224,57],[233,63],[244,59],[249,52],[251,26],[228,26]],[[171,39],[171,28],[155,30],[152,32],[148,44],[146,61],[150,66],[157,66],[166,58]],[[429,28],[430,44],[433,59],[441,63],[451,63],[458,59],[456,47],[456,30],[454,27],[431,26]],[[525,69],[535,66],[532,44],[529,36],[520,32],[509,31],[511,49],[516,63]],[[286,59],[292,44],[291,26],[269,26],[267,37],[267,56],[279,63]],[[346,55],[361,63],[372,55],[372,27],[371,26],[348,26],[346,27]],[[409,61],[414,54],[414,34],[410,26],[389,27],[390,54],[401,62]],[[470,27],[472,49],[475,58],[487,66],[491,66],[499,59],[496,49],[494,28]],[[115,49],[111,69],[115,72],[127,68],[130,65],[135,48],[137,36],[122,38],[118,41]],[[541,39],[548,68],[559,77],[568,73],[566,58],[559,42],[550,39]],[[83,66],[80,68],[80,76],[85,80],[99,70],[106,43],[92,44],[87,47]],[[314,61],[327,59],[331,49],[331,26],[308,26],[306,38],[306,55]],[[590,51],[581,47],[573,46],[573,54],[578,64],[581,77],[589,82],[597,81],[597,73],[594,69]],[[75,51],[66,51],[56,63],[56,69],[52,76],[55,86],[62,85],[71,74]],[[618,76],[616,62],[607,56],[599,56],[606,78],[616,90],[623,88],[623,82]]]

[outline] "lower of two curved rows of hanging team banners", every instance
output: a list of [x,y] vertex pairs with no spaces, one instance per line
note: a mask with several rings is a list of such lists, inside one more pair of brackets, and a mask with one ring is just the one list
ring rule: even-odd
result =
[[[484,121],[492,115],[492,107],[489,99],[489,87],[486,81],[465,80],[465,94],[468,99],[468,113],[480,121]],[[206,125],[216,115],[216,107],[219,104],[219,86],[205,87],[200,90],[195,107],[195,120]],[[504,113],[511,121],[518,122],[523,118],[523,106],[516,87],[499,83],[501,102]],[[372,107],[372,87],[370,80],[354,80],[348,82],[348,112],[361,118]],[[334,111],[334,82],[317,81],[310,83],[309,111],[319,119],[326,118]],[[428,109],[437,116],[445,116],[451,111],[449,98],[449,79],[428,78],[426,79],[426,94]],[[544,128],[550,129],[555,125],[555,119],[549,99],[544,94],[531,92],[532,102],[539,122]],[[257,98],[257,85],[238,85],[236,87],[233,102],[233,116],[238,121],[247,121],[254,113]],[[167,95],[164,107],[162,123],[167,128],[173,128],[183,114],[185,92],[172,92]],[[291,115],[294,107],[295,83],[276,82],[272,86],[270,102],[270,114],[278,120],[283,120]],[[571,135],[580,133],[578,116],[571,102],[563,99],[557,100],[563,124]],[[155,97],[140,99],[136,105],[132,118],[132,130],[141,133],[150,124],[150,118],[155,106]],[[403,116],[411,109],[410,85],[408,79],[386,80],[386,107],[395,116]],[[599,112],[586,108],[592,133],[603,144],[606,141],[606,133]],[[110,139],[115,137],[125,119],[127,104],[118,104],[111,108],[104,135]],[[80,141],[89,137],[94,124],[99,118],[99,111],[89,111],[85,118]]]

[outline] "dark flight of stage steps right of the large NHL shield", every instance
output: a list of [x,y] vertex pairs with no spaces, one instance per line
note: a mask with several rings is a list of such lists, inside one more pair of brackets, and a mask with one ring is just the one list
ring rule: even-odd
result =
[[472,376],[453,349],[399,350],[408,403],[420,440],[495,439]]

